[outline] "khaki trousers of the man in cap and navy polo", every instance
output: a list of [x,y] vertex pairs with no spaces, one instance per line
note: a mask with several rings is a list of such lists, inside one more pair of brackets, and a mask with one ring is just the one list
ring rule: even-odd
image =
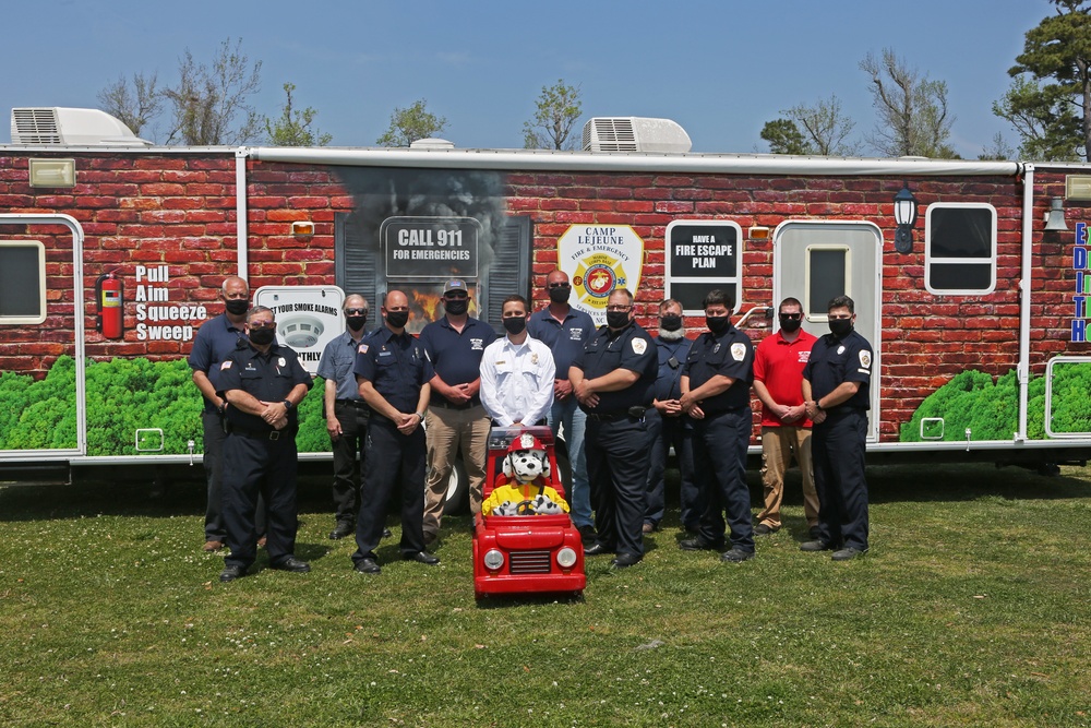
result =
[[440,534],[447,479],[459,450],[470,487],[470,511],[481,512],[481,488],[492,420],[484,407],[447,409],[429,407],[424,420],[428,439],[428,480],[424,485],[424,535]]

